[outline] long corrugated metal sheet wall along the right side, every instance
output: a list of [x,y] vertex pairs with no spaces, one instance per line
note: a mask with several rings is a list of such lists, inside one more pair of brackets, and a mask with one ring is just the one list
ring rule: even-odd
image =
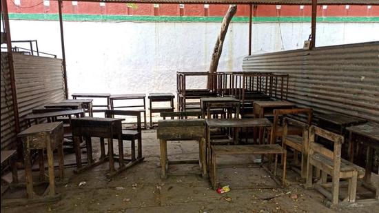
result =
[[379,41],[253,55],[243,70],[289,73],[289,101],[379,122]]

